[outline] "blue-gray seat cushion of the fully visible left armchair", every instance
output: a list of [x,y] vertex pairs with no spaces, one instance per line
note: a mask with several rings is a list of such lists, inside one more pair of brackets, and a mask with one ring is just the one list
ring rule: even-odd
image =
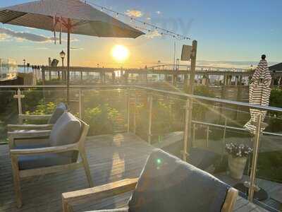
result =
[[[27,148],[44,148],[47,145],[23,145],[16,146],[16,149]],[[25,155],[18,157],[18,166],[20,170],[29,170],[39,167],[49,167],[53,165],[64,165],[71,163],[71,158],[65,155],[59,155],[56,153],[48,153],[44,155]]]

